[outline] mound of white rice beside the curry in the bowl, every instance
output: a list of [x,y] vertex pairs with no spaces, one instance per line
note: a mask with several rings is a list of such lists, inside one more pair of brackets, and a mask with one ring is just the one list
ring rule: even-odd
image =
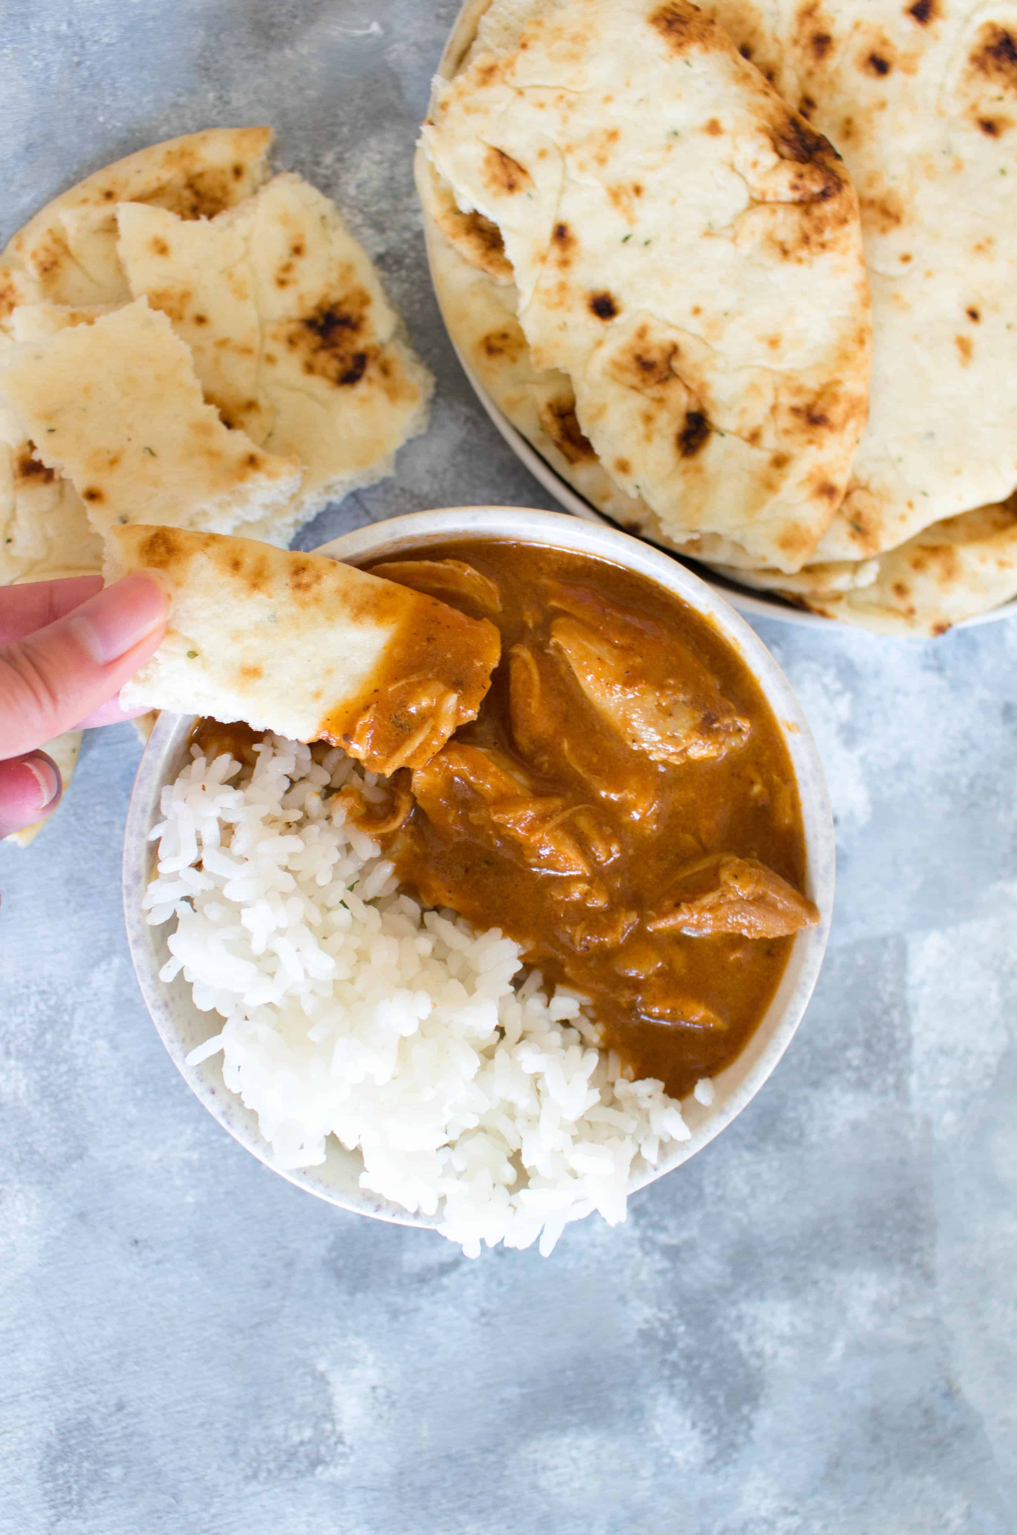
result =
[[[225,1024],[193,1050],[258,1114],[282,1168],[364,1156],[360,1185],[480,1243],[551,1253],[569,1220],[624,1220],[635,1171],[689,1128],[657,1081],[595,1048],[580,999],[520,985],[515,942],[402,895],[336,791],[377,797],[345,754],[268,737],[253,769],[193,761],[163,791],[144,906]],[[701,1084],[699,1084],[701,1087]],[[696,1088],[699,1102],[704,1093]]]

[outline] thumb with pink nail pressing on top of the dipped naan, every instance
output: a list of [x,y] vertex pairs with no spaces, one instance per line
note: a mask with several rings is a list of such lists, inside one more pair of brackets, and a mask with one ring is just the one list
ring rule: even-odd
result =
[[169,594],[152,571],[0,649],[0,752],[17,757],[112,698],[166,632]]

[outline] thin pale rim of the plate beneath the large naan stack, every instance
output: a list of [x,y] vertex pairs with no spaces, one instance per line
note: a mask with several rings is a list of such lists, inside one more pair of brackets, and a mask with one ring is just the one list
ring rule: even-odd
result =
[[[445,40],[445,48],[442,51],[437,69],[434,71],[437,78],[451,80],[451,77],[456,74],[462,58],[465,57],[469,45],[472,43],[472,38],[476,37],[477,23],[480,21],[480,17],[489,8],[489,5],[491,0],[463,0],[459,15],[453,21],[448,38]],[[423,154],[423,150],[417,149],[417,154]],[[463,356],[459,342],[456,341],[456,336],[453,335],[453,330],[445,318],[445,310],[442,309],[442,301],[439,298],[439,287],[434,279],[434,249],[433,249],[434,232],[431,220],[426,215],[426,210],[423,213],[423,243],[428,258],[428,273],[431,276],[431,287],[434,290],[434,299],[437,302],[439,313],[442,316],[442,324],[445,325],[445,333],[451,342],[453,352],[459,358],[459,365],[466,375],[469,387],[472,388],[480,404],[483,405],[495,431],[500,433],[500,436],[509,445],[509,448],[520,460],[520,464],[523,464],[525,468],[529,470],[534,479],[538,480],[540,485],[543,485],[543,488],[548,491],[549,496],[554,496],[554,499],[558,502],[560,507],[572,513],[574,517],[581,517],[584,522],[595,522],[607,528],[618,528],[617,522],[614,522],[606,513],[598,511],[598,508],[594,507],[592,502],[586,500],[584,496],[581,496],[572,485],[569,485],[566,479],[563,479],[561,474],[558,474],[558,471],[548,462],[548,459],[545,459],[543,454],[537,451],[532,442],[529,442],[528,437],[525,437],[523,433],[512,425],[508,416],[491,399],[486,388],[483,387],[474,370],[466,362],[466,358]],[[621,530],[618,528],[618,531]],[[640,537],[640,534],[637,534],[637,537]],[[647,542],[650,540],[647,539]],[[864,629],[857,623],[845,623],[844,619],[827,619],[821,612],[810,612],[807,608],[795,606],[793,602],[785,602],[776,593],[773,596],[765,596],[759,591],[753,591],[749,586],[741,586],[738,582],[729,580],[724,576],[718,576],[716,571],[712,571],[709,568],[709,565],[703,565],[699,563],[699,560],[690,559],[680,550],[666,548],[661,543],[655,543],[653,548],[661,550],[661,553],[667,554],[669,559],[678,560],[687,569],[692,569],[693,574],[698,574],[699,580],[703,580],[707,586],[712,586],[713,591],[718,591],[722,597],[726,597],[733,608],[738,608],[739,612],[750,614],[753,619],[776,619],[779,623],[796,623],[799,626],[813,629],[828,629],[833,625],[834,628],[847,629],[851,634],[868,634],[876,640],[903,640],[905,643],[916,643],[916,642],[923,643],[928,640],[928,635],[925,634],[893,634],[893,635],[874,634],[873,629]],[[973,629],[982,623],[996,623],[999,619],[1012,617],[1012,614],[1017,614],[1017,599],[1011,599],[1009,602],[1002,603],[999,608],[989,608],[988,612],[976,612],[969,619],[960,619],[959,623],[951,625],[950,632],[953,632],[954,629]]]

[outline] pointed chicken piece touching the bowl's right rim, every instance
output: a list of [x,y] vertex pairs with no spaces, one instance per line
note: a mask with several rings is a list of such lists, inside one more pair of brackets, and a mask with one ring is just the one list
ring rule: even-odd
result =
[[787,938],[819,921],[813,903],[756,858],[713,853],[680,870],[676,884],[673,906],[669,901],[667,910],[647,919],[650,932]]

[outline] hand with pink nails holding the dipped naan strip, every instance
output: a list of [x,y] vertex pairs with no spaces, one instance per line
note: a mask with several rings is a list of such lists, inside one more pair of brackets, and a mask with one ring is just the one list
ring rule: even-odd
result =
[[63,786],[43,741],[127,720],[117,694],[160,645],[169,594],[135,571],[0,589],[0,837],[57,807]]

